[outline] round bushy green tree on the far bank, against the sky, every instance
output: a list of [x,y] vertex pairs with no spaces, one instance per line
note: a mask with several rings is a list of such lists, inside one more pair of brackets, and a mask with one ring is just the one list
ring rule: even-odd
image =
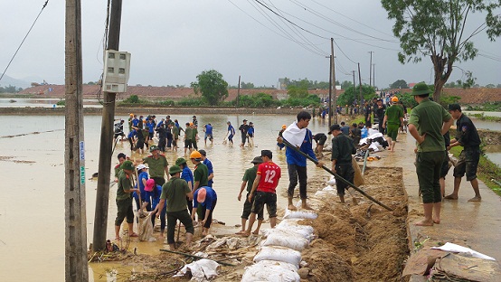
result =
[[218,71],[202,71],[196,79],[198,81],[192,82],[191,87],[196,94],[202,92],[203,99],[209,105],[217,105],[228,97],[228,82],[222,79]]

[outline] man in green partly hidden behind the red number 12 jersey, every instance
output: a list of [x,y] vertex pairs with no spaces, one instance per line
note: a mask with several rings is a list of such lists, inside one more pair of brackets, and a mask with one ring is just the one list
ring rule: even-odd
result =
[[[241,230],[237,232],[238,235],[245,234],[245,230],[247,230],[245,228],[245,224],[247,223],[247,220],[249,220],[249,215],[251,215],[252,204],[254,203],[255,199],[254,197],[252,198],[252,202],[249,202],[249,193],[251,193],[252,184],[256,179],[256,174],[258,173],[258,166],[262,164],[262,158],[260,156],[256,156],[254,157],[251,163],[254,164],[254,166],[245,170],[245,174],[243,174],[243,178],[241,179],[240,193],[237,197],[237,199],[241,201],[241,193],[243,192],[245,187],[247,187],[247,195],[245,196],[245,202],[243,203],[243,211],[241,213]],[[256,230],[260,230],[262,221],[264,221],[264,212],[261,210],[260,212],[258,212],[258,228]],[[258,233],[255,232],[255,234]]]

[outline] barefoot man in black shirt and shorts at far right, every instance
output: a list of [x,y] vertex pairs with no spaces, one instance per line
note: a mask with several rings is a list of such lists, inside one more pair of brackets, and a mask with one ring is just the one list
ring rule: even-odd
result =
[[456,119],[456,137],[450,140],[450,145],[447,148],[450,150],[453,146],[463,146],[463,151],[459,154],[458,164],[454,168],[454,192],[445,199],[458,200],[459,185],[461,178],[467,174],[467,181],[471,183],[471,187],[475,192],[475,197],[468,202],[480,202],[482,197],[478,190],[477,166],[480,160],[480,137],[478,136],[477,128],[467,116],[463,115],[459,104],[449,105],[449,114]]

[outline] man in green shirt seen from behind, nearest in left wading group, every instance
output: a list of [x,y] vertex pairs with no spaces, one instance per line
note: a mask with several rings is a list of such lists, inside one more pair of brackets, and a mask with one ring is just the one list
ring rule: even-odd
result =
[[158,217],[164,209],[165,201],[167,202],[167,243],[170,249],[175,249],[175,224],[177,220],[181,221],[186,230],[186,246],[189,247],[194,237],[194,223],[188,212],[186,205],[186,197],[193,199],[193,193],[180,176],[181,168],[177,165],[171,166],[169,169],[170,180],[162,186],[162,194],[160,202],[156,205],[153,214]]

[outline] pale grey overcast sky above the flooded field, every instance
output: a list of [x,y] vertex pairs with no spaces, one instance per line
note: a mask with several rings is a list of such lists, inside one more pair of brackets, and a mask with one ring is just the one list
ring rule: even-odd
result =
[[[360,62],[369,83],[370,51],[375,85],[395,80],[432,83],[429,58],[402,65],[392,21],[379,1],[260,0],[282,14],[286,24],[255,0],[124,0],[120,51],[131,52],[129,85],[185,85],[204,70],[220,71],[230,85],[238,77],[256,86],[276,86],[279,78],[328,81],[330,38],[335,39],[336,80],[353,80]],[[0,1],[0,73],[5,70],[44,0]],[[83,80],[97,81],[102,72],[107,1],[81,1]],[[305,8],[306,7],[306,8]],[[50,0],[6,75],[64,83],[65,1]],[[468,23],[477,27],[482,16]],[[304,30],[301,30],[301,29]],[[372,36],[372,37],[369,37]],[[474,37],[480,53],[501,60],[501,42]],[[501,83],[501,63],[479,56],[459,63],[473,71],[477,83]],[[455,69],[449,81],[461,79]],[[357,78],[358,80],[358,78]],[[357,82],[358,83],[358,82]],[[0,81],[2,84],[2,81]]]

